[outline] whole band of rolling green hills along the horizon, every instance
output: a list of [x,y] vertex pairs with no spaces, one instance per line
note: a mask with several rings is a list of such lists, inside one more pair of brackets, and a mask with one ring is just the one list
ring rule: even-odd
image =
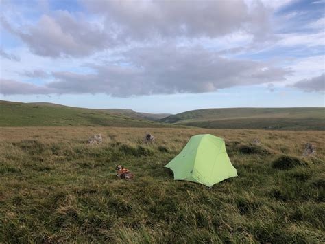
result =
[[176,115],[0,101],[0,126],[196,126],[207,129],[324,130],[325,108],[199,109]]

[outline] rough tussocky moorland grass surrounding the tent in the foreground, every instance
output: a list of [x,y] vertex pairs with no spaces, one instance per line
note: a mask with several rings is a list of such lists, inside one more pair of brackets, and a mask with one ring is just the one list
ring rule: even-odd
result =
[[[143,144],[149,131],[155,144]],[[104,142],[86,144],[101,133]],[[212,188],[163,166],[224,137],[238,177]],[[250,144],[258,137],[261,146]],[[324,243],[325,133],[114,127],[0,129],[0,243]],[[317,148],[302,157],[304,144]],[[132,170],[117,179],[115,166]]]

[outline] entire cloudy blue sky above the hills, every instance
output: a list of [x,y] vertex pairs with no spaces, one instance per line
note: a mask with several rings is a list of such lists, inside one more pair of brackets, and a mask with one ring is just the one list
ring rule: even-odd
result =
[[0,100],[324,107],[323,0],[0,0]]

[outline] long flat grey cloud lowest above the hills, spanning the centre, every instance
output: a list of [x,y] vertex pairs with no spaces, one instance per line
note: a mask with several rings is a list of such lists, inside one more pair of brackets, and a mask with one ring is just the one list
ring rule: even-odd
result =
[[[92,74],[53,72],[53,81],[44,87],[29,87],[29,92],[106,93],[117,97],[204,93],[280,82],[291,73],[268,63],[222,58],[200,47],[136,48],[124,52],[122,61],[123,65],[92,65]],[[16,88],[16,93],[24,92]]]

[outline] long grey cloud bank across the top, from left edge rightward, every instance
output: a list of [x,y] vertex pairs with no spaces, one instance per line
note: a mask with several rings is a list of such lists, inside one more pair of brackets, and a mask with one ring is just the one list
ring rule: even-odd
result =
[[272,8],[260,1],[246,2],[94,0],[83,1],[84,13],[47,12],[35,23],[20,27],[4,17],[1,22],[34,54],[55,58],[177,38],[219,38],[233,33],[251,35],[255,41],[272,38]]

